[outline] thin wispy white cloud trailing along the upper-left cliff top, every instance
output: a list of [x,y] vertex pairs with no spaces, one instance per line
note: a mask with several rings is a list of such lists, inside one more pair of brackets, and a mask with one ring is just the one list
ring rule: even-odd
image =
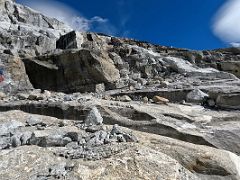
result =
[[98,31],[111,35],[114,35],[116,32],[116,29],[109,23],[108,19],[99,16],[87,19],[73,8],[55,0],[19,0],[19,2],[46,16],[65,22],[78,31]]

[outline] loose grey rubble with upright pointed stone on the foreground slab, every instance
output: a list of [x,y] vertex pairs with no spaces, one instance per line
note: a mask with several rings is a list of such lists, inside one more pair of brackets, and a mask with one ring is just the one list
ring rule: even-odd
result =
[[[80,131],[64,130],[65,125],[76,126]],[[132,133],[124,132],[118,125],[104,128],[103,118],[96,107],[89,111],[84,122],[52,126],[36,116],[30,116],[25,124],[19,121],[2,123],[0,149],[37,145],[51,147],[57,151],[54,150],[56,155],[66,158],[98,160],[122,152],[131,142],[138,142]]]

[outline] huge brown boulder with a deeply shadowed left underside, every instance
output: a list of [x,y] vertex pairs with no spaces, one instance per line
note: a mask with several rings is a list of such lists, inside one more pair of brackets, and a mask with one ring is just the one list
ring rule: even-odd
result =
[[24,63],[31,83],[39,89],[91,92],[96,84],[108,87],[120,78],[106,54],[85,49],[25,59]]

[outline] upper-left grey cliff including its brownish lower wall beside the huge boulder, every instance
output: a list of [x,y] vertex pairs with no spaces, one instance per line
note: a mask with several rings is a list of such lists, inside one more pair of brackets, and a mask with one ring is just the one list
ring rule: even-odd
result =
[[[6,93],[31,89],[19,56],[36,56],[56,49],[56,39],[71,28],[13,1],[0,3],[0,66],[5,81],[0,89]],[[2,64],[2,65],[1,65]]]

